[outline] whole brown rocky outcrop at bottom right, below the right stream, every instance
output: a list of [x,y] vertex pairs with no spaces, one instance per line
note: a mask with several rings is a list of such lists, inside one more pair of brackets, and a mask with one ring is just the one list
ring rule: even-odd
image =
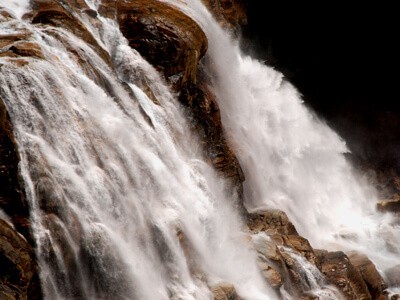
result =
[[[248,227],[261,273],[277,293],[284,288],[296,299],[314,299],[313,285],[307,277],[307,269],[314,269],[313,280],[319,288],[330,289],[332,293],[340,291],[345,299],[388,299],[387,284],[365,255],[314,250],[307,239],[298,235],[284,212],[251,213]],[[393,280],[396,270],[386,275]],[[329,285],[335,286],[337,291]]]

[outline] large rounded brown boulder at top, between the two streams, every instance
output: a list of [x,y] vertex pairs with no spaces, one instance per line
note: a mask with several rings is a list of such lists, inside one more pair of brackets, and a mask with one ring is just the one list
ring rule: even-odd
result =
[[113,4],[121,31],[132,48],[166,77],[181,72],[186,77],[195,76],[198,60],[207,49],[207,38],[195,21],[160,1]]

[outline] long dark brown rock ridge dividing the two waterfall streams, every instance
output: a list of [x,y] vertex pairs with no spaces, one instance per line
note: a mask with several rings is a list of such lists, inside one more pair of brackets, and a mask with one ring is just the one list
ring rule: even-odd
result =
[[198,68],[207,50],[200,26],[178,8],[156,0],[102,1],[99,13],[115,19],[129,45],[164,74],[186,106],[210,162],[231,178],[240,194],[243,172],[223,135],[215,96]]

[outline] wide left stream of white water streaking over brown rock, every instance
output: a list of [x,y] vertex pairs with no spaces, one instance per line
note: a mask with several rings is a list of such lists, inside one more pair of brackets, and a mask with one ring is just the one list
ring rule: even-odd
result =
[[0,24],[30,32],[45,57],[0,58],[45,298],[210,299],[221,281],[276,297],[161,77],[111,20],[79,19],[115,69],[62,28]]

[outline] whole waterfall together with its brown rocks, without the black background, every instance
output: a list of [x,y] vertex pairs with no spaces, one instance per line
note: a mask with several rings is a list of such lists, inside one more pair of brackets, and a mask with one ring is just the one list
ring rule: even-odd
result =
[[397,297],[397,202],[240,52],[244,1],[4,1],[0,298]]

